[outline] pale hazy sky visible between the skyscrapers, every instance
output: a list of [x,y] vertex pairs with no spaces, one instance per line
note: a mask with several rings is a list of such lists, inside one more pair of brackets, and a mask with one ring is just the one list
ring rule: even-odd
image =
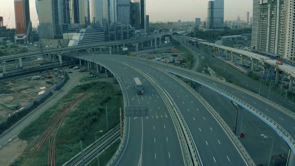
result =
[[[14,0],[0,0],[0,16],[4,18],[4,25],[15,27],[14,21]],[[252,12],[253,0],[224,0],[224,19],[236,19],[237,14],[243,20],[245,12]],[[146,14],[149,15],[149,21],[176,21],[181,19],[194,20],[200,17],[204,20],[207,16],[208,0],[146,0]],[[35,0],[29,0],[30,17],[32,25],[36,26],[37,14]],[[8,17],[10,19],[8,21]]]

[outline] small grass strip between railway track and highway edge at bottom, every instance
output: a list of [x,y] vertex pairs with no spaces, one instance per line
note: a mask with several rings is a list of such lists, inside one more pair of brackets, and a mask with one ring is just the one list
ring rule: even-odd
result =
[[[107,147],[102,153],[99,154],[99,165],[106,165],[108,160],[113,156],[115,151],[117,150],[120,144],[120,139],[115,140],[110,146]],[[89,166],[97,165],[97,158],[93,159],[89,164]]]

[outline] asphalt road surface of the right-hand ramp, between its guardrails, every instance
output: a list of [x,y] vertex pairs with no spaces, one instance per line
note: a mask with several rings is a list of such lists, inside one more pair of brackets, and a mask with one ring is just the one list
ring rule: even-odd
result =
[[[118,56],[117,56],[118,57]],[[139,60],[145,64],[153,64],[153,62],[149,62],[143,59],[136,59]],[[295,120],[293,118],[291,118],[290,116],[286,115],[285,113],[277,110],[276,108],[272,107],[271,105],[268,105],[267,103],[264,103],[261,100],[258,100],[257,98],[248,95],[246,93],[243,93],[242,91],[239,91],[231,86],[228,86],[226,84],[217,82],[213,79],[207,78],[205,76],[202,75],[198,75],[198,74],[194,74],[185,70],[182,70],[180,68],[177,67],[170,67],[167,66],[165,64],[159,64],[162,67],[167,67],[169,69],[172,70],[176,70],[178,72],[182,72],[184,74],[199,78],[207,83],[210,83],[212,85],[215,85],[216,87],[219,87],[225,91],[227,91],[228,93],[234,95],[235,97],[247,102],[248,104],[252,105],[253,107],[255,107],[256,109],[258,109],[259,111],[263,112],[264,114],[266,114],[267,116],[269,116],[270,118],[272,118],[273,120],[275,120],[278,124],[280,124],[285,130],[287,130],[287,132],[292,135],[293,137],[295,137]],[[259,102],[256,102],[259,101]],[[258,104],[257,104],[258,103]]]

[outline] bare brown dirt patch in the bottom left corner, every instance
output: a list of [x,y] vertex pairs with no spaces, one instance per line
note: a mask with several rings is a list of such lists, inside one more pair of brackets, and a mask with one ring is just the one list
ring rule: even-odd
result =
[[16,159],[27,146],[27,142],[19,138],[12,139],[8,144],[0,150],[1,166],[8,166]]

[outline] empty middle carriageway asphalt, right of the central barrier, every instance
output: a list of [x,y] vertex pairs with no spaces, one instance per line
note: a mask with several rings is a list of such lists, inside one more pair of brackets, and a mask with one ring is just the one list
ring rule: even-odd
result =
[[[128,62],[132,63],[132,60]],[[146,66],[141,65],[142,69],[144,69],[145,67]],[[145,68],[145,70],[148,71],[155,79],[157,79],[157,81],[164,88],[166,88],[168,82],[172,82],[170,83],[171,86],[166,88],[166,90],[171,96],[173,96],[176,105],[178,106],[188,127],[190,128],[192,137],[195,140],[196,147],[200,153],[200,157],[204,165],[220,165],[220,163],[224,163],[224,165],[245,165],[240,154],[238,153],[237,149],[234,147],[226,133],[222,130],[220,125],[217,124],[216,120],[212,117],[208,110],[206,110],[202,103],[199,102],[190,91],[188,91],[175,79],[164,74],[162,71],[153,69],[151,67]],[[184,96],[185,94],[187,96]],[[188,100],[187,98],[194,99],[194,101]],[[212,121],[215,123],[212,123]],[[199,132],[201,132],[201,128],[207,128],[210,131],[212,131],[212,128],[216,129],[214,130],[214,132],[203,132],[201,133],[202,136],[200,136]],[[218,135],[218,139],[216,139],[216,135]],[[210,142],[210,144],[208,142]],[[216,146],[219,144],[219,142],[223,142],[223,148],[221,149],[217,148],[218,146]]]

